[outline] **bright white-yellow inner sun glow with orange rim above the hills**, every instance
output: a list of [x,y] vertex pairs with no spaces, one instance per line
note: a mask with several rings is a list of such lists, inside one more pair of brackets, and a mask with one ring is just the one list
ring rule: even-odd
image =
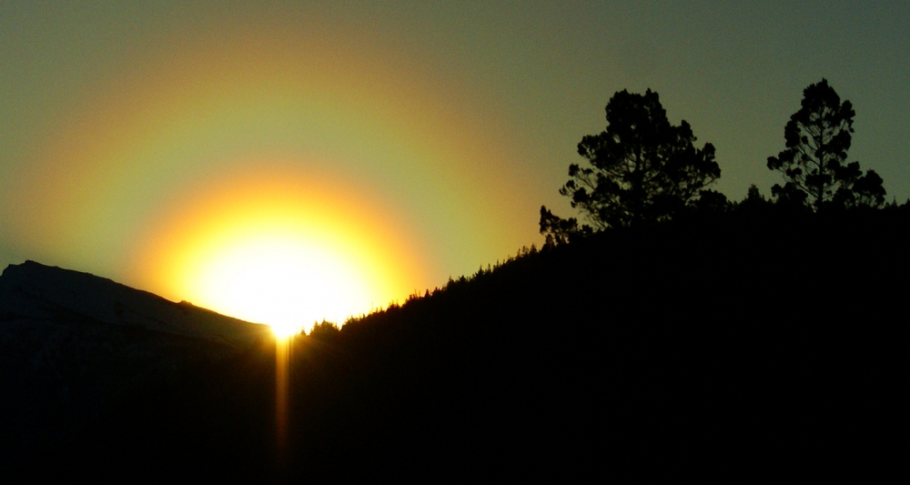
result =
[[405,231],[349,187],[293,174],[216,182],[150,227],[140,253],[149,288],[279,337],[323,319],[341,325],[412,291],[420,258]]

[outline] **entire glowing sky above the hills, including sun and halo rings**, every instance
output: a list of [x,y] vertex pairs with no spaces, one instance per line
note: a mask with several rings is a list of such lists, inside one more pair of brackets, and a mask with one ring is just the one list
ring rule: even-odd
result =
[[903,202],[906,59],[896,1],[6,1],[0,265],[343,319],[540,245],[622,89],[713,143],[736,200],[781,181],[766,159],[824,77],[850,160]]

